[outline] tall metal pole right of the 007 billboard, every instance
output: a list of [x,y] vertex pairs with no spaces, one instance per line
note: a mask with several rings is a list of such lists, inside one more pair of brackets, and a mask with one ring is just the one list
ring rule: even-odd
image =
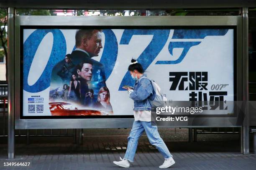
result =
[[248,112],[248,7],[242,8],[243,17],[243,102],[245,104],[244,121],[242,127],[243,154],[249,154],[249,112]]

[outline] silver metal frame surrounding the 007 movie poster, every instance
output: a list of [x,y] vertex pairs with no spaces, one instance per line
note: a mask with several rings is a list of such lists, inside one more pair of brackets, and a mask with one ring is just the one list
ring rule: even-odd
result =
[[[84,16],[15,16],[15,129],[60,128],[131,128],[133,118],[83,118],[83,119],[20,119],[20,26],[236,26],[236,100],[242,100],[242,17],[241,16],[134,16],[134,17],[84,17]],[[234,77],[235,78],[235,77]],[[199,117],[207,126],[234,126],[236,117]]]

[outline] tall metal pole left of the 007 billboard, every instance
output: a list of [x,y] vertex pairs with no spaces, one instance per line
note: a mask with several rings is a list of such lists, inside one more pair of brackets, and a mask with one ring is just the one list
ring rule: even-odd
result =
[[8,159],[14,158],[14,8],[8,8]]

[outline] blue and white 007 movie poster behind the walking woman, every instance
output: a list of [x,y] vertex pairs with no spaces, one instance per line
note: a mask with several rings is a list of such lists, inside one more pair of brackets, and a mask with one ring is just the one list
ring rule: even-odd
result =
[[132,58],[170,101],[234,100],[233,29],[22,32],[23,116],[133,115]]

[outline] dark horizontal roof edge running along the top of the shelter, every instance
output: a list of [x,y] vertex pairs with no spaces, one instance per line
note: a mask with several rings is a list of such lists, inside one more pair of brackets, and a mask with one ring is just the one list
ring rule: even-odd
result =
[[175,9],[175,8],[224,8],[224,7],[255,7],[256,2],[253,0],[151,0],[148,3],[147,0],[129,0],[120,3],[118,0],[76,0],[71,2],[69,0],[44,0],[35,1],[31,3],[31,0],[2,0],[0,7],[16,7],[16,8],[46,8],[46,9],[120,9],[120,10],[141,10],[141,9]]

